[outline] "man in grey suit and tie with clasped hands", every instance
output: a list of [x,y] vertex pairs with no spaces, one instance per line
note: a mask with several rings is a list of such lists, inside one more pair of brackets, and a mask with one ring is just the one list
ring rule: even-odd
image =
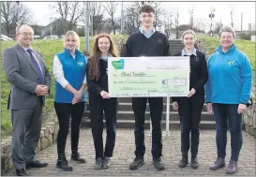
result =
[[4,52],[4,70],[11,93],[8,109],[13,127],[11,136],[12,163],[18,176],[29,176],[25,169],[46,167],[35,160],[35,149],[41,130],[42,107],[50,93],[51,76],[43,56],[31,49],[34,30],[28,25],[16,28],[17,44]]

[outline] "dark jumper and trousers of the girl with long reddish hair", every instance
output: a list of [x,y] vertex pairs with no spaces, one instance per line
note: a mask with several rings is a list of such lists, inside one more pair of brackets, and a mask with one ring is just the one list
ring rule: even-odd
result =
[[[89,108],[91,128],[94,139],[94,146],[96,152],[96,159],[98,157],[112,157],[113,148],[115,144],[116,132],[116,113],[117,113],[117,98],[102,98],[101,91],[109,92],[108,75],[106,73],[108,68],[108,61],[104,59],[98,60],[100,76],[98,81],[91,81],[89,79],[90,59],[88,59],[86,77],[89,92]],[[106,120],[106,144],[103,152],[103,111]]]

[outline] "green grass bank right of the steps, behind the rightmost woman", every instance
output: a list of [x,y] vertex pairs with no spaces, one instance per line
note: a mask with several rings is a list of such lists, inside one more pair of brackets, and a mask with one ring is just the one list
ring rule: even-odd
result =
[[[218,37],[198,37],[199,40],[203,41],[206,45],[207,52],[206,55],[210,55],[214,53],[219,45]],[[248,59],[250,61],[250,65],[255,73],[255,42],[251,42],[248,40],[236,39],[234,41],[235,46],[238,50],[245,52],[248,55]]]

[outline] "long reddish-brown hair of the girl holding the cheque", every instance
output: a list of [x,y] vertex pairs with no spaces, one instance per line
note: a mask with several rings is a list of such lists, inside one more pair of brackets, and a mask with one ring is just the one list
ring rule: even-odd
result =
[[101,52],[98,49],[98,39],[101,38],[101,37],[108,37],[109,38],[110,44],[111,44],[110,49],[109,49],[109,53],[112,54],[113,57],[116,57],[116,56],[119,55],[119,53],[117,52],[116,47],[113,43],[113,38],[110,35],[106,34],[106,33],[99,34],[96,37],[95,41],[94,41],[93,51],[92,51],[92,54],[89,57],[90,58],[89,78],[90,78],[91,81],[93,81],[93,80],[98,81],[99,76],[100,76],[98,58],[100,57]]

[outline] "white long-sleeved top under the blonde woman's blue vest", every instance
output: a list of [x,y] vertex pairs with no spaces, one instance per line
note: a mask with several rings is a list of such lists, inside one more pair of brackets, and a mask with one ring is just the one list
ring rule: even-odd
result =
[[[75,60],[75,56],[74,55],[72,56],[73,56],[73,59]],[[65,76],[64,76],[63,66],[57,55],[54,55],[53,57],[53,77],[63,88],[65,88],[66,85],[68,84],[68,81],[65,79]],[[83,83],[86,83],[86,73],[83,78]]]

